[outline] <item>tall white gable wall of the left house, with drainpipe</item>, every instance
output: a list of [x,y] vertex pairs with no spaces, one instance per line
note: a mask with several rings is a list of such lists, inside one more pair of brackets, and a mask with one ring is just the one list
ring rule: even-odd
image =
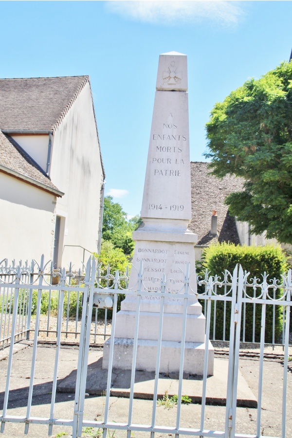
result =
[[79,267],[83,256],[87,260],[91,252],[97,251],[103,183],[89,84],[80,92],[52,140],[50,177],[65,193],[56,205],[56,214],[61,216],[63,247],[58,266],[72,261]]

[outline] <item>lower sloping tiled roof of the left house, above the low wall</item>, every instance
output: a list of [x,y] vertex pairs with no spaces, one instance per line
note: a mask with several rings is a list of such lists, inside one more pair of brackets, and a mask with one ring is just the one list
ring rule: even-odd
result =
[[0,131],[0,171],[12,174],[58,196],[62,192],[51,182],[42,168],[8,135]]

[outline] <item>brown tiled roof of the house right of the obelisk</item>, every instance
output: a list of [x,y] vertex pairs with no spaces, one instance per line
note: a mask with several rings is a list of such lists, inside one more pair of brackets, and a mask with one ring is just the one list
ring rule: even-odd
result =
[[[224,204],[227,195],[243,189],[243,180],[232,175],[222,180],[210,175],[208,163],[191,162],[192,221],[189,229],[198,234],[198,245],[211,242],[239,244],[235,218]],[[209,236],[212,211],[217,210],[219,237]]]

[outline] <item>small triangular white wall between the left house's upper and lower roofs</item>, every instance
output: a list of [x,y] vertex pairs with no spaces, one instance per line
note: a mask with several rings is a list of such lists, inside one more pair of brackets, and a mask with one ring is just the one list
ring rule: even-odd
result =
[[43,169],[44,172],[47,171],[49,134],[13,134],[11,137],[35,160],[35,162]]

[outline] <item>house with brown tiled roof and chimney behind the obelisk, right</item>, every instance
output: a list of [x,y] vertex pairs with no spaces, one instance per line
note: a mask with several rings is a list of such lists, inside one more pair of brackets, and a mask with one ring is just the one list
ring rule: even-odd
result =
[[229,215],[225,198],[242,189],[242,178],[226,175],[219,179],[210,174],[208,163],[191,162],[192,220],[189,229],[198,235],[196,260],[200,260],[204,248],[211,243],[255,246],[277,243],[276,239],[267,239],[264,233],[252,235],[247,222]]

